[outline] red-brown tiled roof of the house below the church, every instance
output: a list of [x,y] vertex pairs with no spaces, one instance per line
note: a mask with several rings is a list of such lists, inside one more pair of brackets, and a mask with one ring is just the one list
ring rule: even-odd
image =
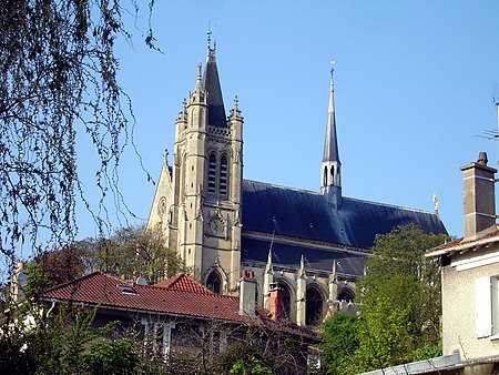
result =
[[[122,292],[123,286],[125,292]],[[129,293],[132,292],[132,293]],[[180,274],[156,285],[139,285],[121,278],[94,272],[42,293],[41,300],[99,305],[101,308],[132,312],[153,312],[183,317],[217,320],[232,323],[256,322],[295,335],[317,341],[309,330],[296,324],[275,322],[267,311],[256,306],[256,317],[238,314],[240,298],[211,292],[191,276]]]

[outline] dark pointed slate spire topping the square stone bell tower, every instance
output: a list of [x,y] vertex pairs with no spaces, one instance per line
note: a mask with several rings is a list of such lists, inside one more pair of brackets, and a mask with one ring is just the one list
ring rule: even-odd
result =
[[203,89],[207,92],[208,125],[216,128],[227,128],[227,116],[225,114],[224,99],[216,68],[216,42],[212,48],[212,32],[207,31],[207,55],[203,74]]

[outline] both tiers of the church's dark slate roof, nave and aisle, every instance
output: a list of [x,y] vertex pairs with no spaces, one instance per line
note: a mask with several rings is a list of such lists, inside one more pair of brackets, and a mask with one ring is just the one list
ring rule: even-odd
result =
[[[259,232],[297,239],[294,245],[274,244],[279,263],[298,264],[305,254],[310,267],[330,271],[333,259],[342,252],[310,246],[325,243],[337,249],[368,250],[376,234],[414,223],[426,233],[447,233],[439,216],[432,212],[399,207],[383,203],[342,197],[334,207],[320,193],[243,181],[243,261],[266,262],[271,237],[252,240],[248,233]],[[361,255],[345,255],[344,273],[360,275],[365,260]]]

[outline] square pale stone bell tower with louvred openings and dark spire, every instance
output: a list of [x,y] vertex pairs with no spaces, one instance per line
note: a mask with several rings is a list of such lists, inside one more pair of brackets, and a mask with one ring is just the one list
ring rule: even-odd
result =
[[210,32],[204,72],[198,63],[176,119],[173,166],[165,164],[147,225],[161,224],[197,280],[233,293],[241,267],[243,116],[237,97],[225,113]]

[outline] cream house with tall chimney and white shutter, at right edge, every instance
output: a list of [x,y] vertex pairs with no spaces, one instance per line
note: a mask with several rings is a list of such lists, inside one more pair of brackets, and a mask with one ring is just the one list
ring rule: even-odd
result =
[[465,235],[427,251],[439,260],[442,356],[366,374],[499,373],[499,231],[495,174],[485,152],[461,168]]

